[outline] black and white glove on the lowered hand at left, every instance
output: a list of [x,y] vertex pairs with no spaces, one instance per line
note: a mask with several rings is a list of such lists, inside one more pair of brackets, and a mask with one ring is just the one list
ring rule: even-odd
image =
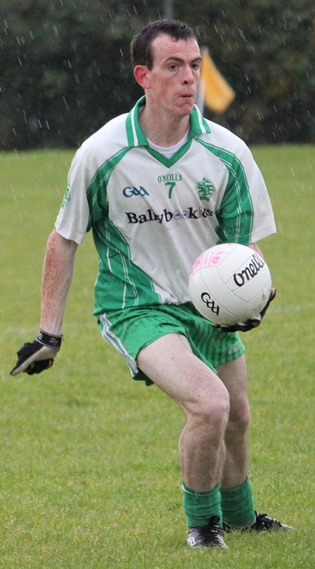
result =
[[22,345],[18,351],[18,362],[10,371],[10,375],[16,376],[25,371],[31,376],[33,373],[41,373],[44,369],[48,369],[52,366],[61,343],[62,336],[52,336],[40,330],[34,342]]

